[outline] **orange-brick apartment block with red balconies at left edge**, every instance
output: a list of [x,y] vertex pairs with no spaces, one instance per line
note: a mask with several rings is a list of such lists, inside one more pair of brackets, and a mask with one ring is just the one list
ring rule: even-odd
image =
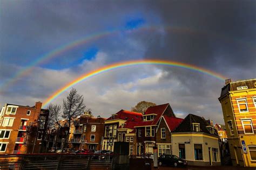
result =
[[0,154],[39,153],[49,110],[6,103],[0,115]]

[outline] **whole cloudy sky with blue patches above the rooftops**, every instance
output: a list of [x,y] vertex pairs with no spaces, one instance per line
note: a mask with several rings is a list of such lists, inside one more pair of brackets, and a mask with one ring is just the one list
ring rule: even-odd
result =
[[[246,0],[1,0],[0,104],[32,106],[80,75],[130,60],[177,61],[234,81],[254,79],[255,7]],[[218,97],[224,85],[190,69],[139,65],[73,88],[95,116],[149,101],[170,103],[177,117],[195,114],[223,123]],[[62,105],[69,90],[52,103]]]

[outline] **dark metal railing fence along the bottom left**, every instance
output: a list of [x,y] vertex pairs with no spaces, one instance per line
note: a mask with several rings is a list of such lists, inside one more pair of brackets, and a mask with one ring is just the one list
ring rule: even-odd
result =
[[0,155],[0,169],[106,169],[113,154],[20,154]]

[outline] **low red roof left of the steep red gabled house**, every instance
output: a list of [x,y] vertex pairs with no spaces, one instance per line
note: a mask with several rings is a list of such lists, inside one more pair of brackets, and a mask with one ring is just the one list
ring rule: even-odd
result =
[[128,110],[120,110],[118,111],[114,117],[111,116],[106,119],[106,121],[114,120],[114,119],[122,119],[126,121],[135,121],[138,122],[139,120],[142,120],[142,114],[138,112],[128,111]]

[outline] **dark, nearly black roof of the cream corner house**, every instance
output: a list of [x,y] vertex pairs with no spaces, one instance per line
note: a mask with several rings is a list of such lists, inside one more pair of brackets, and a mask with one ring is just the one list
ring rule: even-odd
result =
[[193,114],[188,114],[184,121],[179,124],[179,126],[174,129],[173,132],[193,132],[193,124],[192,123],[200,123],[200,132],[211,134],[210,131],[206,128],[206,126],[210,126],[210,124],[200,116],[196,116]]

